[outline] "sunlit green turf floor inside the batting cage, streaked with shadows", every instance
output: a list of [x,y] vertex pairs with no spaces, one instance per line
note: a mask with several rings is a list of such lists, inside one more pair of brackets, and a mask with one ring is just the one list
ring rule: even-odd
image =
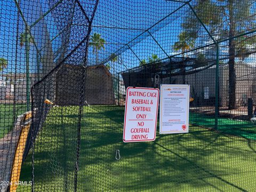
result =
[[[92,106],[83,110],[78,157],[78,114],[78,107],[55,107],[47,115],[35,144],[35,191],[256,190],[254,140],[190,126],[188,134],[124,143],[124,108]],[[31,180],[31,154],[21,180]]]

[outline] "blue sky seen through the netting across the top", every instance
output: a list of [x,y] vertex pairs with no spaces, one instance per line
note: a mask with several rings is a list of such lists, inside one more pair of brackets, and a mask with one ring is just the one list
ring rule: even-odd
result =
[[[48,2],[48,1],[47,1]],[[49,10],[49,5],[46,0],[33,0],[33,1],[21,1],[21,10],[25,15],[28,25],[35,22],[40,15]],[[57,2],[51,1],[51,2]],[[71,2],[71,3],[70,3]],[[89,14],[93,9],[93,4],[82,5]],[[65,5],[70,4],[65,7]],[[53,3],[54,4],[54,3]],[[61,28],[67,25],[71,13],[70,0],[63,0],[63,2],[57,7],[59,9],[59,18],[54,18],[56,12],[51,12],[46,17],[38,22],[33,28],[31,33],[35,37],[36,44],[42,54],[45,49],[44,39],[53,39],[61,31]],[[181,33],[181,23],[183,22],[184,14],[189,10],[186,5],[179,11],[173,13],[170,17],[166,17],[178,7],[181,3],[168,2],[164,0],[100,0],[98,9],[95,13],[93,20],[93,33],[101,34],[102,38],[106,40],[105,50],[99,52],[99,60],[105,61],[112,53],[121,54],[122,65],[119,66],[119,71],[127,68],[135,67],[139,65],[139,59],[147,59],[151,54],[157,54],[159,58],[166,58],[166,54],[175,54],[172,49],[174,42],[178,41],[178,35]],[[0,57],[4,57],[9,61],[6,72],[15,71],[15,46],[16,46],[16,35],[17,35],[17,7],[15,6],[14,0],[6,0],[0,2]],[[76,7],[74,12],[73,24],[86,25],[86,20],[81,17],[81,10]],[[166,17],[166,18],[165,18]],[[154,27],[154,23],[160,21]],[[86,27],[84,26],[73,26],[71,28],[71,37],[68,51],[71,51],[85,36]],[[107,26],[102,27],[102,26]],[[144,30],[147,30],[140,35]],[[25,25],[20,18],[18,34],[23,33]],[[154,38],[150,36],[152,34],[155,40],[162,46],[164,51],[157,45]],[[201,34],[205,34],[205,31],[201,31]],[[134,41],[133,38],[140,35]],[[127,46],[126,43],[130,42]],[[197,42],[198,46],[203,45],[206,42]],[[207,42],[210,43],[210,42]],[[62,48],[61,36],[55,38],[51,42],[53,52],[57,52],[58,49]],[[129,49],[131,48],[131,50]],[[119,50],[119,51],[118,51]],[[80,50],[78,50],[80,51]],[[81,60],[84,53],[77,51],[76,61]],[[118,52],[116,52],[118,51]],[[134,54],[134,53],[136,54]],[[179,52],[178,52],[179,53]],[[25,46],[18,44],[18,57],[17,57],[17,73],[24,73],[25,67]],[[58,55],[55,55],[58,58]],[[79,58],[81,57],[81,58]],[[138,59],[138,58],[139,59]],[[30,72],[35,73],[36,71],[36,49],[34,45],[30,45]],[[73,60],[70,59],[71,62]],[[74,60],[75,61],[75,60]],[[92,47],[89,48],[89,62],[95,63],[95,54],[92,52]],[[77,65],[77,63],[74,63]],[[118,72],[119,72],[118,71]]]

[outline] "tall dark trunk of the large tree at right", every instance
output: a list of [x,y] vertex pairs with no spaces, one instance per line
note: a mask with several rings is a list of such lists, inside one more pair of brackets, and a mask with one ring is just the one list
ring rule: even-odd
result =
[[[234,10],[233,1],[230,0],[229,5],[229,37],[234,37],[235,35],[235,21],[234,21]],[[229,109],[236,109],[236,70],[235,70],[235,39],[229,39],[229,60],[228,60],[228,70],[229,70]]]

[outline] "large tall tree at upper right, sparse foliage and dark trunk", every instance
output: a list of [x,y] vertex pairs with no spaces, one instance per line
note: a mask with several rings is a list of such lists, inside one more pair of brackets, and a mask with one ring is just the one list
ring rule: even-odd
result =
[[[209,29],[211,35],[218,41],[226,39],[227,37],[234,37],[249,28],[255,28],[255,13],[253,7],[254,0],[197,0],[195,1],[194,10],[198,18]],[[182,23],[182,29],[186,33],[186,43],[180,42],[175,46],[182,47],[180,50],[184,51],[188,48],[189,41],[196,41],[196,39],[207,34],[202,34],[202,25],[195,17],[194,13],[188,15]],[[210,38],[210,36],[208,36]],[[206,39],[205,39],[206,40]],[[228,66],[229,66],[229,109],[236,108],[236,71],[235,71],[235,58],[239,57],[245,59],[250,54],[255,53],[252,51],[252,46],[256,45],[256,36],[242,36],[236,39],[229,39],[228,47]]]

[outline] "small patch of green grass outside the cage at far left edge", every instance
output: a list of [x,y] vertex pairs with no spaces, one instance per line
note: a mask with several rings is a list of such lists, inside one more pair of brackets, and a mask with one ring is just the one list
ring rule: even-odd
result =
[[13,128],[13,119],[26,112],[25,104],[0,104],[0,139]]

